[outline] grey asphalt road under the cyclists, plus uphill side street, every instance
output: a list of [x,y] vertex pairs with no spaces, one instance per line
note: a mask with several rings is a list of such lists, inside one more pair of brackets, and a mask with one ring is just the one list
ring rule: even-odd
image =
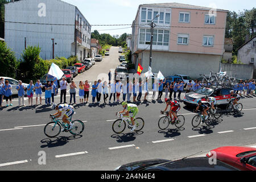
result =
[[[98,62],[92,75],[106,72],[106,69],[119,64],[117,49],[110,49],[110,56]],[[109,59],[109,62],[107,61]],[[105,66],[104,66],[105,65]],[[105,67],[105,71],[104,71]],[[97,73],[96,73],[97,71]],[[92,79],[82,73],[76,79]],[[223,115],[213,126],[193,128],[191,109],[181,102],[179,114],[184,114],[185,125],[179,130],[170,126],[167,130],[158,128],[160,110],[165,105],[160,102],[137,103],[145,126],[142,131],[115,134],[112,124],[115,112],[122,110],[119,104],[74,105],[76,114],[85,124],[84,132],[76,137],[60,133],[56,138],[44,135],[44,125],[50,107],[4,107],[1,110],[0,127],[0,170],[113,170],[121,164],[146,159],[178,159],[188,155],[205,155],[209,150],[220,146],[256,147],[256,97],[240,100],[243,104],[241,115]],[[46,154],[46,164],[40,156]]]

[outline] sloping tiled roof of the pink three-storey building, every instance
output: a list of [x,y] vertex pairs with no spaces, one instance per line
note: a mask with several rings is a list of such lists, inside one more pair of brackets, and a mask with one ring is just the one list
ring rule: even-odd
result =
[[[195,5],[187,5],[187,4],[181,4],[181,3],[152,3],[152,4],[143,4],[140,6],[152,6],[152,7],[172,7],[172,8],[182,8],[182,9],[199,9],[199,10],[212,10],[212,7],[204,7],[204,6],[195,6]],[[229,10],[222,10],[217,9],[216,11],[226,11]]]

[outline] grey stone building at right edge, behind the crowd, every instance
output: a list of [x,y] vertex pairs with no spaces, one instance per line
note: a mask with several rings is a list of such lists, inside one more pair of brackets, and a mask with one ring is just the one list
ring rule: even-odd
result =
[[254,78],[256,77],[256,35],[237,49],[237,60],[243,64],[254,65]]

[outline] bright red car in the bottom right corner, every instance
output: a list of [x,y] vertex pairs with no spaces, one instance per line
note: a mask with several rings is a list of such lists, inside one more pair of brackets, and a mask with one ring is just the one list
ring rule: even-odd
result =
[[256,171],[256,148],[254,147],[219,147],[206,156],[216,156],[217,160],[242,171]]

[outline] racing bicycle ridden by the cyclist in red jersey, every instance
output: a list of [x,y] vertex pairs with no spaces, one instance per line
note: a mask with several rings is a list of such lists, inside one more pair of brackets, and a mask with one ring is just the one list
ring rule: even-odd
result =
[[[161,111],[161,113],[162,113],[162,111]],[[185,117],[183,115],[177,115],[176,121],[172,122],[169,112],[166,111],[166,115],[159,119],[158,127],[161,130],[165,130],[170,125],[170,123],[171,123],[171,125],[175,125],[177,128],[180,128],[185,123]]]

